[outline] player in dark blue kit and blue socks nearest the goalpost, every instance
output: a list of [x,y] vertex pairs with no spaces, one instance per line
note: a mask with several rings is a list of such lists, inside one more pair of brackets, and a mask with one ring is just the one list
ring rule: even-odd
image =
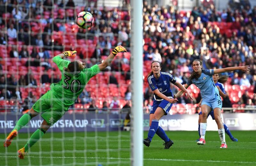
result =
[[151,70],[151,73],[148,74],[148,84],[154,92],[154,102],[149,114],[150,128],[148,131],[148,138],[144,139],[143,143],[149,147],[150,142],[156,133],[164,140],[164,149],[169,149],[172,146],[173,141],[165,134],[164,130],[158,126],[158,121],[162,116],[167,115],[172,104],[178,101],[172,96],[170,82],[186,92],[191,100],[193,100],[193,98],[189,94],[188,90],[186,90],[181,83],[176,82],[175,78],[171,74],[161,72],[161,64],[158,61],[153,61],[151,63]]

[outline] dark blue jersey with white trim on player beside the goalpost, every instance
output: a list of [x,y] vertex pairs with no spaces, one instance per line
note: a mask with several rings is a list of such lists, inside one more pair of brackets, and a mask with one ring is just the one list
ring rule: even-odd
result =
[[[165,96],[172,98],[172,90],[170,82],[175,83],[176,79],[169,73],[160,72],[160,77],[156,79],[154,75],[148,77],[148,84],[152,91],[158,90]],[[154,94],[154,100],[162,101],[163,99]]]

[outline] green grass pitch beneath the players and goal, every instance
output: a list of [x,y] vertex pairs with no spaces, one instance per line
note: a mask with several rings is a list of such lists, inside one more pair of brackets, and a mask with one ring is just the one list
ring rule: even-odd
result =
[[[174,141],[170,149],[164,149],[164,142],[155,135],[150,147],[143,146],[143,162],[145,166],[256,165],[256,131],[232,131],[232,134],[238,142],[232,142],[226,134],[227,149],[220,149],[217,131],[206,132],[206,145],[196,145],[196,131],[168,131],[167,135]],[[5,135],[0,134],[0,142],[4,142],[4,138]],[[2,144],[0,165],[130,165],[129,132],[47,132],[26,158],[20,160],[17,150],[27,139],[28,134],[19,134],[9,148]]]

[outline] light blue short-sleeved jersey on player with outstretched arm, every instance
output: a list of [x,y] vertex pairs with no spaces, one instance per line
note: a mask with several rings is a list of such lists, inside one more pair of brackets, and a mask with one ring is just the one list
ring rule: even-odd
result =
[[188,85],[193,83],[200,89],[200,93],[204,101],[211,101],[215,98],[216,93],[220,96],[219,90],[212,79],[213,74],[213,69],[202,70],[202,74],[198,79],[188,79],[187,81]]

